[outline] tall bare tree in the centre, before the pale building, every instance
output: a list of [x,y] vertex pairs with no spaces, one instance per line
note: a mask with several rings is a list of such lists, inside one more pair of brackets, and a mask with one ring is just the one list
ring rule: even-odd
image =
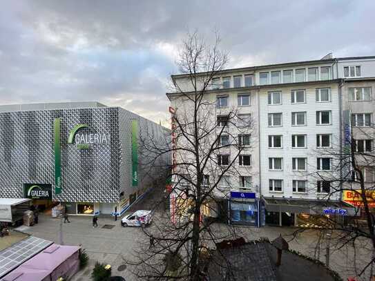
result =
[[207,248],[235,236],[234,229],[216,232],[213,218],[220,206],[227,205],[231,190],[227,176],[239,175],[237,163],[250,161],[242,156],[249,139],[238,135],[251,135],[255,126],[249,115],[239,115],[225,99],[215,98],[219,86],[215,76],[228,61],[219,45],[217,34],[213,45],[197,32],[187,36],[177,59],[182,75],[178,81],[172,77],[174,91],[168,94],[172,140],[165,148],[152,135],[142,139],[148,153],[144,165],[155,167],[157,157],[168,153],[173,163],[166,193],[170,211],[155,216],[153,226],[144,229],[150,245],[130,262],[138,278],[202,280]]

